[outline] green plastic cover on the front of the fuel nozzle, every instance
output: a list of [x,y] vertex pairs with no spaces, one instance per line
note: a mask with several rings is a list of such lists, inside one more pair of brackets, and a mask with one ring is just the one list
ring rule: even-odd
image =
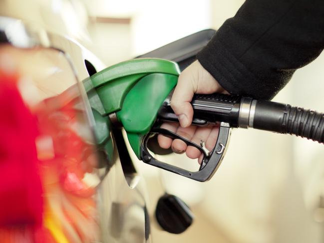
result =
[[[177,84],[179,74],[175,62],[139,58],[107,67],[83,80],[83,85],[96,123],[105,117],[111,124],[108,116],[116,113],[133,151],[140,158],[143,136],[153,126],[157,112]],[[101,140],[110,136],[110,125],[106,127],[105,134],[100,132]]]

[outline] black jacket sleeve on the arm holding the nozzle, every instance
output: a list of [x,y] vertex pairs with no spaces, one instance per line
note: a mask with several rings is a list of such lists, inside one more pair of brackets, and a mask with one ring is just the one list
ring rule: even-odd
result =
[[272,99],[323,48],[324,0],[246,0],[197,58],[228,92]]

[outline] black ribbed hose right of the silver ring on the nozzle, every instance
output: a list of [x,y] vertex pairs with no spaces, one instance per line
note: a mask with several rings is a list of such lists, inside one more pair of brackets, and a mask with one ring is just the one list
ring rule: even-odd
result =
[[324,114],[288,104],[258,101],[253,127],[294,134],[324,144]]

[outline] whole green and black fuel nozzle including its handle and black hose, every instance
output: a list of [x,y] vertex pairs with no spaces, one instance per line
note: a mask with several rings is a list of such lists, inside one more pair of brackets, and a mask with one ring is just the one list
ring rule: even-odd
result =
[[[157,58],[120,62],[83,80],[96,123],[110,118],[123,126],[138,159],[197,181],[207,181],[216,172],[226,152],[232,127],[253,127],[283,134],[295,134],[324,143],[324,115],[312,110],[271,101],[225,94],[196,94],[191,102],[193,125],[219,124],[215,147],[208,151],[176,133],[162,129],[162,122],[178,122],[170,106],[170,93],[179,76],[177,63]],[[106,119],[106,120],[105,120]],[[101,127],[104,127],[101,125]],[[102,130],[102,129],[101,129]],[[109,131],[108,131],[109,132]],[[105,137],[104,132],[97,132]],[[150,137],[162,134],[181,139],[200,150],[204,158],[198,171],[185,169],[155,159],[147,148]],[[103,138],[101,140],[104,140]],[[110,148],[110,150],[112,150]]]

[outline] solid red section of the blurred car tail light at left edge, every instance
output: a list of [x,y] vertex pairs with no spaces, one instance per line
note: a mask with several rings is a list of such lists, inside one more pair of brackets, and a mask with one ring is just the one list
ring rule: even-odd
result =
[[17,75],[0,70],[0,225],[42,222],[43,199],[35,147],[36,118],[23,103]]

